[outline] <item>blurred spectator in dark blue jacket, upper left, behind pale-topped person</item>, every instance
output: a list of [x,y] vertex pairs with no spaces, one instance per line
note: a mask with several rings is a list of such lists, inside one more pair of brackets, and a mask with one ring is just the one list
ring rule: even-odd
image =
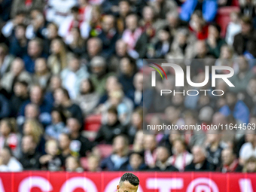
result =
[[35,73],[35,59],[38,59],[39,57],[46,58],[46,54],[43,52],[43,42],[41,41],[41,38],[35,38],[29,41],[28,54],[23,56],[27,72]]

